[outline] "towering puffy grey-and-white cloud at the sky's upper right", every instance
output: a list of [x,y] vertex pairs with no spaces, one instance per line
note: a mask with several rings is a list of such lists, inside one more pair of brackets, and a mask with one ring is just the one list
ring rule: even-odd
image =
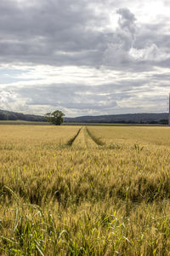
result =
[[[118,9],[117,14],[120,15],[119,26],[116,28],[116,32],[113,33],[112,42],[105,49],[105,66],[126,68],[137,72],[148,68],[152,69],[156,66],[161,67],[163,63],[170,60],[167,43],[162,45],[160,36],[157,35],[157,30],[162,25],[160,27],[145,26],[147,33],[142,30],[140,34],[135,23],[137,19],[129,9]],[[155,32],[150,33],[153,29],[155,29]],[[162,38],[166,37],[169,40],[169,36],[162,35]]]

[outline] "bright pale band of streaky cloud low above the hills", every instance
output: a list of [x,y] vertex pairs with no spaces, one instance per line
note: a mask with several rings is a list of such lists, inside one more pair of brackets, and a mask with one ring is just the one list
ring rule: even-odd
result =
[[[158,71],[157,71],[158,73]],[[105,74],[106,75],[106,74]],[[138,77],[138,73],[136,73]],[[161,79],[161,84],[160,84]],[[43,114],[60,109],[68,116],[167,111],[168,73],[143,74],[137,79],[110,83],[6,85],[0,91],[0,108]],[[96,80],[97,81],[97,80]],[[164,88],[164,91],[162,90]],[[159,96],[158,96],[159,95]],[[5,108],[4,108],[5,109]]]

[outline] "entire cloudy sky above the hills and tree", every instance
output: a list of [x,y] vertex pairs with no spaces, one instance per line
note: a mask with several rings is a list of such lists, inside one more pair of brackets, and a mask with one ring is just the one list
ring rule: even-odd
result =
[[0,0],[0,109],[167,112],[168,0]]

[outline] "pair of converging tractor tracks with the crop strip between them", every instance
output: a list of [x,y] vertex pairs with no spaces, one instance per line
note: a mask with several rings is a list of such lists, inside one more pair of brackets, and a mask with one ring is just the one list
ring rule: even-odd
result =
[[98,137],[95,137],[87,127],[83,126],[77,131],[77,134],[72,137],[67,143],[67,146],[80,146],[82,148],[103,146],[103,143]]

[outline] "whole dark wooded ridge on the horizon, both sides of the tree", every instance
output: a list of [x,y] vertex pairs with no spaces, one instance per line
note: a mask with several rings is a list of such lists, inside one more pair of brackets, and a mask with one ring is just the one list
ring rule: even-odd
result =
[[[16,113],[0,109],[0,120],[25,120],[46,122],[40,115]],[[99,116],[65,117],[65,122],[71,123],[115,123],[115,124],[162,124],[167,125],[168,113],[126,113]]]

